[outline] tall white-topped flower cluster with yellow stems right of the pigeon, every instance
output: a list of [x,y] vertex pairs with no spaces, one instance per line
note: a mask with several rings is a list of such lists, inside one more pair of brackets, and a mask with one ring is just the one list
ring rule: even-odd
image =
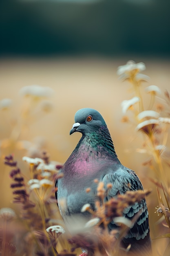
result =
[[[161,90],[157,85],[149,85],[144,90],[141,87],[141,82],[148,81],[147,77],[139,72],[145,70],[144,63],[135,63],[133,61],[128,61],[126,65],[118,67],[117,74],[127,80],[133,86],[135,95],[132,99],[125,100],[121,103],[123,119],[124,122],[132,122],[134,124],[135,120],[135,131],[142,132],[146,136],[146,141],[143,143],[143,148],[138,148],[139,153],[148,153],[152,158],[148,161],[149,166],[155,170],[155,175],[158,180],[164,182],[166,189],[168,188],[168,183],[170,182],[170,177],[166,177],[166,169],[164,163],[169,163],[168,158],[165,159],[168,148],[166,147],[167,141],[167,130],[170,124],[169,115],[165,117],[163,110],[165,106],[159,103]],[[142,78],[142,79],[141,79]],[[150,103],[148,106],[144,104],[145,96],[143,94],[148,94],[150,97]],[[166,91],[166,101],[164,104],[168,106],[170,104],[169,94]],[[158,102],[157,102],[158,101]],[[134,118],[130,121],[127,116],[128,110],[134,114]],[[165,161],[164,161],[165,160]],[[164,161],[164,163],[163,163]],[[170,163],[169,163],[170,164]]]

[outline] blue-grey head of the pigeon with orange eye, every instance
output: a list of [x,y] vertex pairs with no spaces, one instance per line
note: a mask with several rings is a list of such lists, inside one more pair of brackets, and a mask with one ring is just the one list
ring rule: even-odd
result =
[[106,126],[103,117],[93,108],[82,108],[75,113],[75,124],[70,131],[81,132],[83,135],[97,131],[101,126]]

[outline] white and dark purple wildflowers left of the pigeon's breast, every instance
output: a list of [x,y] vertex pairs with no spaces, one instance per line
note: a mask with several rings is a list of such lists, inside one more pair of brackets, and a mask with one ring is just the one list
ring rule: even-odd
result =
[[[33,177],[28,182],[25,182],[24,175],[20,171],[20,168],[18,168],[17,162],[13,159],[13,155],[4,158],[4,163],[12,168],[9,176],[12,179],[11,189],[13,189],[14,195],[13,203],[21,204],[22,211],[20,212],[20,218],[26,227],[22,227],[19,240],[22,240],[24,251],[29,252],[29,245],[34,244],[33,247],[31,246],[33,250],[31,252],[32,255],[55,256],[57,253],[58,237],[65,232],[62,226],[55,225],[56,222],[61,221],[55,219],[55,179],[56,177],[60,178],[57,174],[57,168],[55,168],[56,163],[53,162],[52,164],[49,160],[49,156],[45,152],[43,152],[42,158],[33,159],[23,157],[23,160],[29,163],[30,175]],[[40,164],[42,169],[40,169]],[[35,192],[34,196],[32,196],[33,191]],[[15,213],[11,209],[0,210],[0,217],[3,219],[5,217],[6,221],[13,219],[14,216]],[[19,225],[17,228],[21,229]],[[15,236],[15,234],[13,234],[13,236]],[[15,243],[16,248],[19,247],[19,240]],[[4,252],[8,252],[8,254],[3,255],[12,255],[14,249],[9,250],[13,248],[12,245],[12,243],[8,243],[8,246],[6,245],[4,247]],[[61,255],[65,254],[61,253]]]

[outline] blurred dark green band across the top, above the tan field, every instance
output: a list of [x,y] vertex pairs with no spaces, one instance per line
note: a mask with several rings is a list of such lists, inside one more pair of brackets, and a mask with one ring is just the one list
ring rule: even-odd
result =
[[170,55],[167,0],[2,0],[0,54]]

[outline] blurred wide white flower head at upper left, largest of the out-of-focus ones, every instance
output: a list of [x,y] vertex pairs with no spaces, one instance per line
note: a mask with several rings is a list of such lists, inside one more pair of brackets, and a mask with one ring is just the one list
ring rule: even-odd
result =
[[50,97],[53,94],[53,90],[49,87],[43,87],[40,85],[27,85],[20,89],[22,96],[33,97]]

